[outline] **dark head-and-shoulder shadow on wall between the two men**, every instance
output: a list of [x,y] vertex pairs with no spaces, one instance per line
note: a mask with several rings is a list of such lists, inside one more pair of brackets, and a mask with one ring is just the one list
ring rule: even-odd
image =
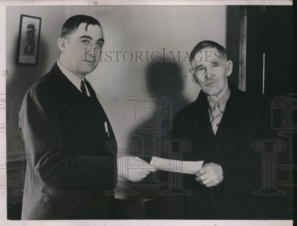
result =
[[[142,137],[144,150],[138,150],[133,155],[150,161],[153,155],[160,154],[157,147],[152,146],[157,145],[159,139],[156,136],[161,140],[170,139],[172,120],[188,104],[188,100],[183,96],[186,80],[178,63],[150,62],[145,77],[150,95],[142,94],[140,99],[143,100],[136,104],[134,119],[137,128],[132,131]],[[130,139],[135,140],[135,136]],[[141,149],[142,145],[139,147]]]

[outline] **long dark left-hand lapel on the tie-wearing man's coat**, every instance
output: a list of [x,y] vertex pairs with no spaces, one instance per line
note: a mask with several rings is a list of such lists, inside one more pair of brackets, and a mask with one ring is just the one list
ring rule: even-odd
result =
[[[52,68],[54,80],[56,87],[61,91],[61,101],[69,110],[69,112],[74,116],[78,123],[86,129],[89,134],[94,138],[97,144],[104,148],[104,142],[100,137],[99,129],[94,126],[93,120],[88,116],[88,109],[86,106],[93,106],[95,109],[95,102],[90,97],[82,94],[77,87],[72,84],[71,81],[61,72],[57,63]],[[88,87],[89,88],[89,87]]]

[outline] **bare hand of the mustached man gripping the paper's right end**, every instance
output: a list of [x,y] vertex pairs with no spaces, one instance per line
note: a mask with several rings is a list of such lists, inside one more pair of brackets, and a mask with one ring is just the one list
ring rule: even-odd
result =
[[216,186],[223,181],[222,166],[215,163],[207,163],[196,173],[196,181],[206,187]]

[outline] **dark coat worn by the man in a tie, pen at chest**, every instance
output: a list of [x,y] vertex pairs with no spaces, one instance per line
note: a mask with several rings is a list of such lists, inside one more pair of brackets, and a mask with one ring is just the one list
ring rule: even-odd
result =
[[[115,187],[115,140],[90,84],[81,93],[55,63],[25,94],[21,134],[28,160],[22,219],[108,219]],[[20,114],[21,115],[21,114]],[[109,137],[105,132],[107,122]],[[34,149],[34,141],[44,147]],[[33,149],[33,151],[32,151]],[[116,149],[114,149],[116,151]]]

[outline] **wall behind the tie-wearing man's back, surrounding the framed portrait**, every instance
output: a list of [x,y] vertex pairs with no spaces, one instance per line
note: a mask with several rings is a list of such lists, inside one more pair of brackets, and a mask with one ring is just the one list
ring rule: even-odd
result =
[[[11,100],[13,97],[22,100],[31,84],[47,73],[59,58],[60,53],[56,42],[61,35],[62,25],[67,19],[65,10],[66,6],[48,6],[46,10],[44,10],[44,7],[37,6],[6,7],[6,70],[8,72],[6,76],[6,93]],[[41,17],[40,46],[36,66],[16,64],[21,14]],[[9,117],[8,112],[7,117]],[[13,125],[14,128],[17,128],[18,114],[15,114],[14,117],[15,122]],[[13,151],[11,148],[12,142],[20,139],[18,130],[10,129],[7,131],[7,165],[20,164],[20,153]],[[12,185],[13,182],[20,183],[20,174],[20,169],[8,169],[7,179],[10,181],[8,185]],[[7,186],[7,202],[22,201],[21,195],[12,195],[12,191],[17,191],[19,188],[20,184]]]

